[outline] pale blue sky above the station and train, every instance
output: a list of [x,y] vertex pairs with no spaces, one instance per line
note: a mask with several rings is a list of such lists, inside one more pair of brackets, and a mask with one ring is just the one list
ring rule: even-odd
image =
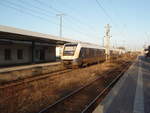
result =
[[[98,1],[98,2],[97,2]],[[100,5],[98,5],[100,3]],[[150,43],[149,0],[0,0],[0,25],[103,45],[111,26],[111,45],[141,49]]]

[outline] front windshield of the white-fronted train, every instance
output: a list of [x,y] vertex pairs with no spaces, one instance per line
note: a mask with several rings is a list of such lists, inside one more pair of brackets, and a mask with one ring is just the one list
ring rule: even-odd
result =
[[75,53],[77,45],[65,45],[64,47],[64,56],[73,56]]

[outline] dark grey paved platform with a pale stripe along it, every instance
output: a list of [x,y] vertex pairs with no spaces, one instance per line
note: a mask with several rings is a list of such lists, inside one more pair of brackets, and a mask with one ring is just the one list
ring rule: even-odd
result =
[[93,113],[150,113],[150,59],[139,56]]

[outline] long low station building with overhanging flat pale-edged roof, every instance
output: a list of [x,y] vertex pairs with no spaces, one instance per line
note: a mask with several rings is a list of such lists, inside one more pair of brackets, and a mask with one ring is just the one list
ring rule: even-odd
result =
[[0,26],[0,66],[52,62],[56,46],[73,40]]

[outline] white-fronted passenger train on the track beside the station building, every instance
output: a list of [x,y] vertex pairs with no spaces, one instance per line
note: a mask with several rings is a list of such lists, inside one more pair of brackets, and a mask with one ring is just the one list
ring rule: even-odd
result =
[[[110,56],[117,57],[119,53],[110,50]],[[62,64],[65,67],[78,68],[93,63],[106,60],[106,50],[104,47],[84,43],[67,43],[63,47],[61,55]]]

